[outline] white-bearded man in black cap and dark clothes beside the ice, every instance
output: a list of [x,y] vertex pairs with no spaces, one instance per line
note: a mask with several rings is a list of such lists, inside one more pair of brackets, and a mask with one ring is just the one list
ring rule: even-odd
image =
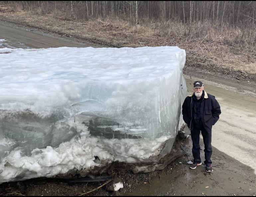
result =
[[193,83],[194,92],[185,99],[182,105],[182,115],[190,129],[193,144],[192,154],[194,162],[190,165],[190,168],[195,169],[197,165],[202,164],[199,145],[199,134],[201,131],[204,143],[206,172],[212,172],[211,128],[218,121],[221,111],[215,97],[207,94],[203,89],[204,86],[201,81]]

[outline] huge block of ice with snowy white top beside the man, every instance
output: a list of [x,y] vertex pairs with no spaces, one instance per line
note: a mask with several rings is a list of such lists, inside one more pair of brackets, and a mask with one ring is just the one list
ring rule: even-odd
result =
[[184,123],[185,57],[170,46],[0,49],[0,182],[167,154]]

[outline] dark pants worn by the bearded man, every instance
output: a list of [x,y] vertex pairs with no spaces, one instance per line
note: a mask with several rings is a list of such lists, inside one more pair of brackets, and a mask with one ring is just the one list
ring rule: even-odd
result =
[[194,162],[199,162],[199,163],[201,162],[200,145],[199,145],[200,130],[201,130],[201,133],[203,136],[203,143],[204,143],[204,157],[205,157],[204,164],[209,165],[212,163],[211,162],[211,154],[212,154],[211,131],[207,132],[203,128],[203,126],[200,129],[193,128],[193,130],[191,131],[191,139],[192,139],[192,143],[193,143],[192,154],[193,154]]

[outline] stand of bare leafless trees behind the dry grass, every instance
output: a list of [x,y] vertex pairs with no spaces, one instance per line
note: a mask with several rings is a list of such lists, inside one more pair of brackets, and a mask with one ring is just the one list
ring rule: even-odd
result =
[[[148,22],[182,21],[189,32],[193,22],[212,20],[225,23],[255,26],[254,1],[0,1],[16,4],[24,10],[40,9],[42,14],[63,13],[79,19],[93,19],[110,16],[112,19],[128,20],[139,24]],[[66,8],[69,12],[65,12]],[[167,16],[168,15],[168,16]],[[142,20],[141,20],[142,19]]]

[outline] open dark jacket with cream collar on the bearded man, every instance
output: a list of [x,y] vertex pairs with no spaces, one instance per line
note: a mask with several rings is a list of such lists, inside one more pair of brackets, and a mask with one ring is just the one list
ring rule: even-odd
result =
[[[190,96],[186,97],[182,105],[182,115],[183,120],[187,123],[190,130],[193,130],[194,125],[192,121],[192,93]],[[221,114],[220,106],[218,101],[215,99],[214,96],[207,94],[204,91],[204,97],[201,101],[200,106],[200,115],[202,125],[206,131],[211,131],[212,125],[214,125],[218,119],[219,115]]]

